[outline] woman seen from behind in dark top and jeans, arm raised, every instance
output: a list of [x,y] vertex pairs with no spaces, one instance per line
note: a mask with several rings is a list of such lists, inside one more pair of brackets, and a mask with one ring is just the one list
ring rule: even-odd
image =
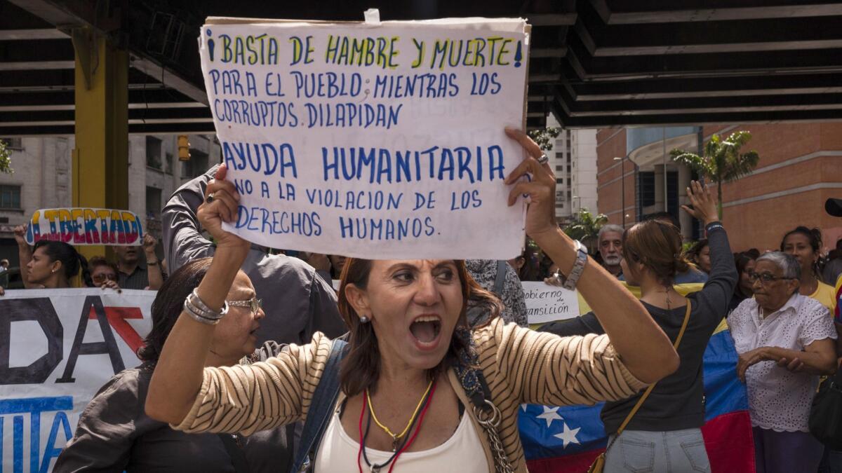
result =
[[[621,430],[621,424],[645,395],[637,393],[622,401],[605,403],[601,417],[605,432],[610,434],[605,471],[710,469],[700,429],[705,423],[701,363],[711,334],[727,315],[737,270],[725,229],[717,218],[716,199],[699,183],[691,185],[687,194],[693,206],[682,208],[705,222],[710,247],[710,275],[701,291],[685,297],[673,287],[676,274],[690,268],[681,255],[681,234],[674,225],[642,221],[623,234],[623,275],[628,284],[640,287],[643,306],[669,339],[678,344],[681,363],[672,375],[658,381],[624,429]],[[687,326],[676,342],[685,318]],[[541,327],[541,331],[562,336],[604,333],[592,314],[554,322]],[[619,445],[611,446],[615,441]]]

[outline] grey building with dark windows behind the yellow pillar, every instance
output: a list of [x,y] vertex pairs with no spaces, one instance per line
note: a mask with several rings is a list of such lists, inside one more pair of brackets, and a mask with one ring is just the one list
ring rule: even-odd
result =
[[[0,138],[12,151],[14,173],[0,173],[0,259],[18,266],[13,228],[38,209],[72,206],[69,137]],[[129,137],[129,209],[145,218],[144,231],[161,237],[161,208],[182,183],[220,162],[214,136],[189,136],[190,159],[179,161],[177,136]],[[159,248],[160,249],[160,248]],[[161,253],[159,251],[159,253]],[[162,253],[163,254],[163,253]]]

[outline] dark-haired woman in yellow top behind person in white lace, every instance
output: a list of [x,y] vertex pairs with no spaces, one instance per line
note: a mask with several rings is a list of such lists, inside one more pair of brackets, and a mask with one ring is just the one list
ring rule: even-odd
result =
[[836,296],[834,287],[824,284],[818,267],[822,250],[822,231],[818,228],[797,226],[787,231],[781,240],[781,252],[790,253],[801,264],[801,285],[798,294],[818,300],[834,313]]

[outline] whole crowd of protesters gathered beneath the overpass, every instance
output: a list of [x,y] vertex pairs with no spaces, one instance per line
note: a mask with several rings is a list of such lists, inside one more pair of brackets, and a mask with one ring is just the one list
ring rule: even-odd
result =
[[[774,251],[732,252],[715,199],[694,182],[683,209],[705,238],[684,251],[675,215],[663,213],[601,227],[591,256],[546,218],[555,179],[540,149],[507,133],[530,156],[507,182],[532,177],[512,190],[532,204],[529,244],[508,262],[287,255],[244,242],[221,229],[238,199],[224,165],[164,206],[165,260],[148,234],[141,246],[114,247],[114,259],[87,260],[63,242],[29,246],[16,228],[27,289],[158,291],[141,365],[103,386],[55,471],[299,468],[301,424],[337,337],[349,348],[333,415],[310,452],[315,470],[458,462],[525,471],[520,404],[606,401],[606,471],[635,460],[616,440],[651,445],[650,470],[705,471],[702,354],[725,320],[748,388],[757,471],[842,472],[842,453],[807,426],[818,383],[842,353],[842,239],[823,254],[821,231],[797,226]],[[842,200],[827,210],[842,217]],[[530,330],[520,282],[542,280],[575,287],[592,312]],[[639,300],[623,284],[639,287]],[[477,392],[498,417],[494,432]]]

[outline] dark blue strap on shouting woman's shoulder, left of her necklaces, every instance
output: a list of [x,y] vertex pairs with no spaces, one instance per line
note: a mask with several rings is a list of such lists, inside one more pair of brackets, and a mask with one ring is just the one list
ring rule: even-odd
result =
[[322,379],[319,380],[316,391],[313,391],[310,409],[307,411],[307,418],[301,431],[301,441],[296,449],[295,460],[292,462],[291,473],[312,469],[316,459],[316,450],[322,441],[325,428],[330,423],[333,406],[339,396],[339,362],[344,358],[344,348],[347,344],[344,340],[333,340],[328,361],[324,364],[324,371],[322,371]]

